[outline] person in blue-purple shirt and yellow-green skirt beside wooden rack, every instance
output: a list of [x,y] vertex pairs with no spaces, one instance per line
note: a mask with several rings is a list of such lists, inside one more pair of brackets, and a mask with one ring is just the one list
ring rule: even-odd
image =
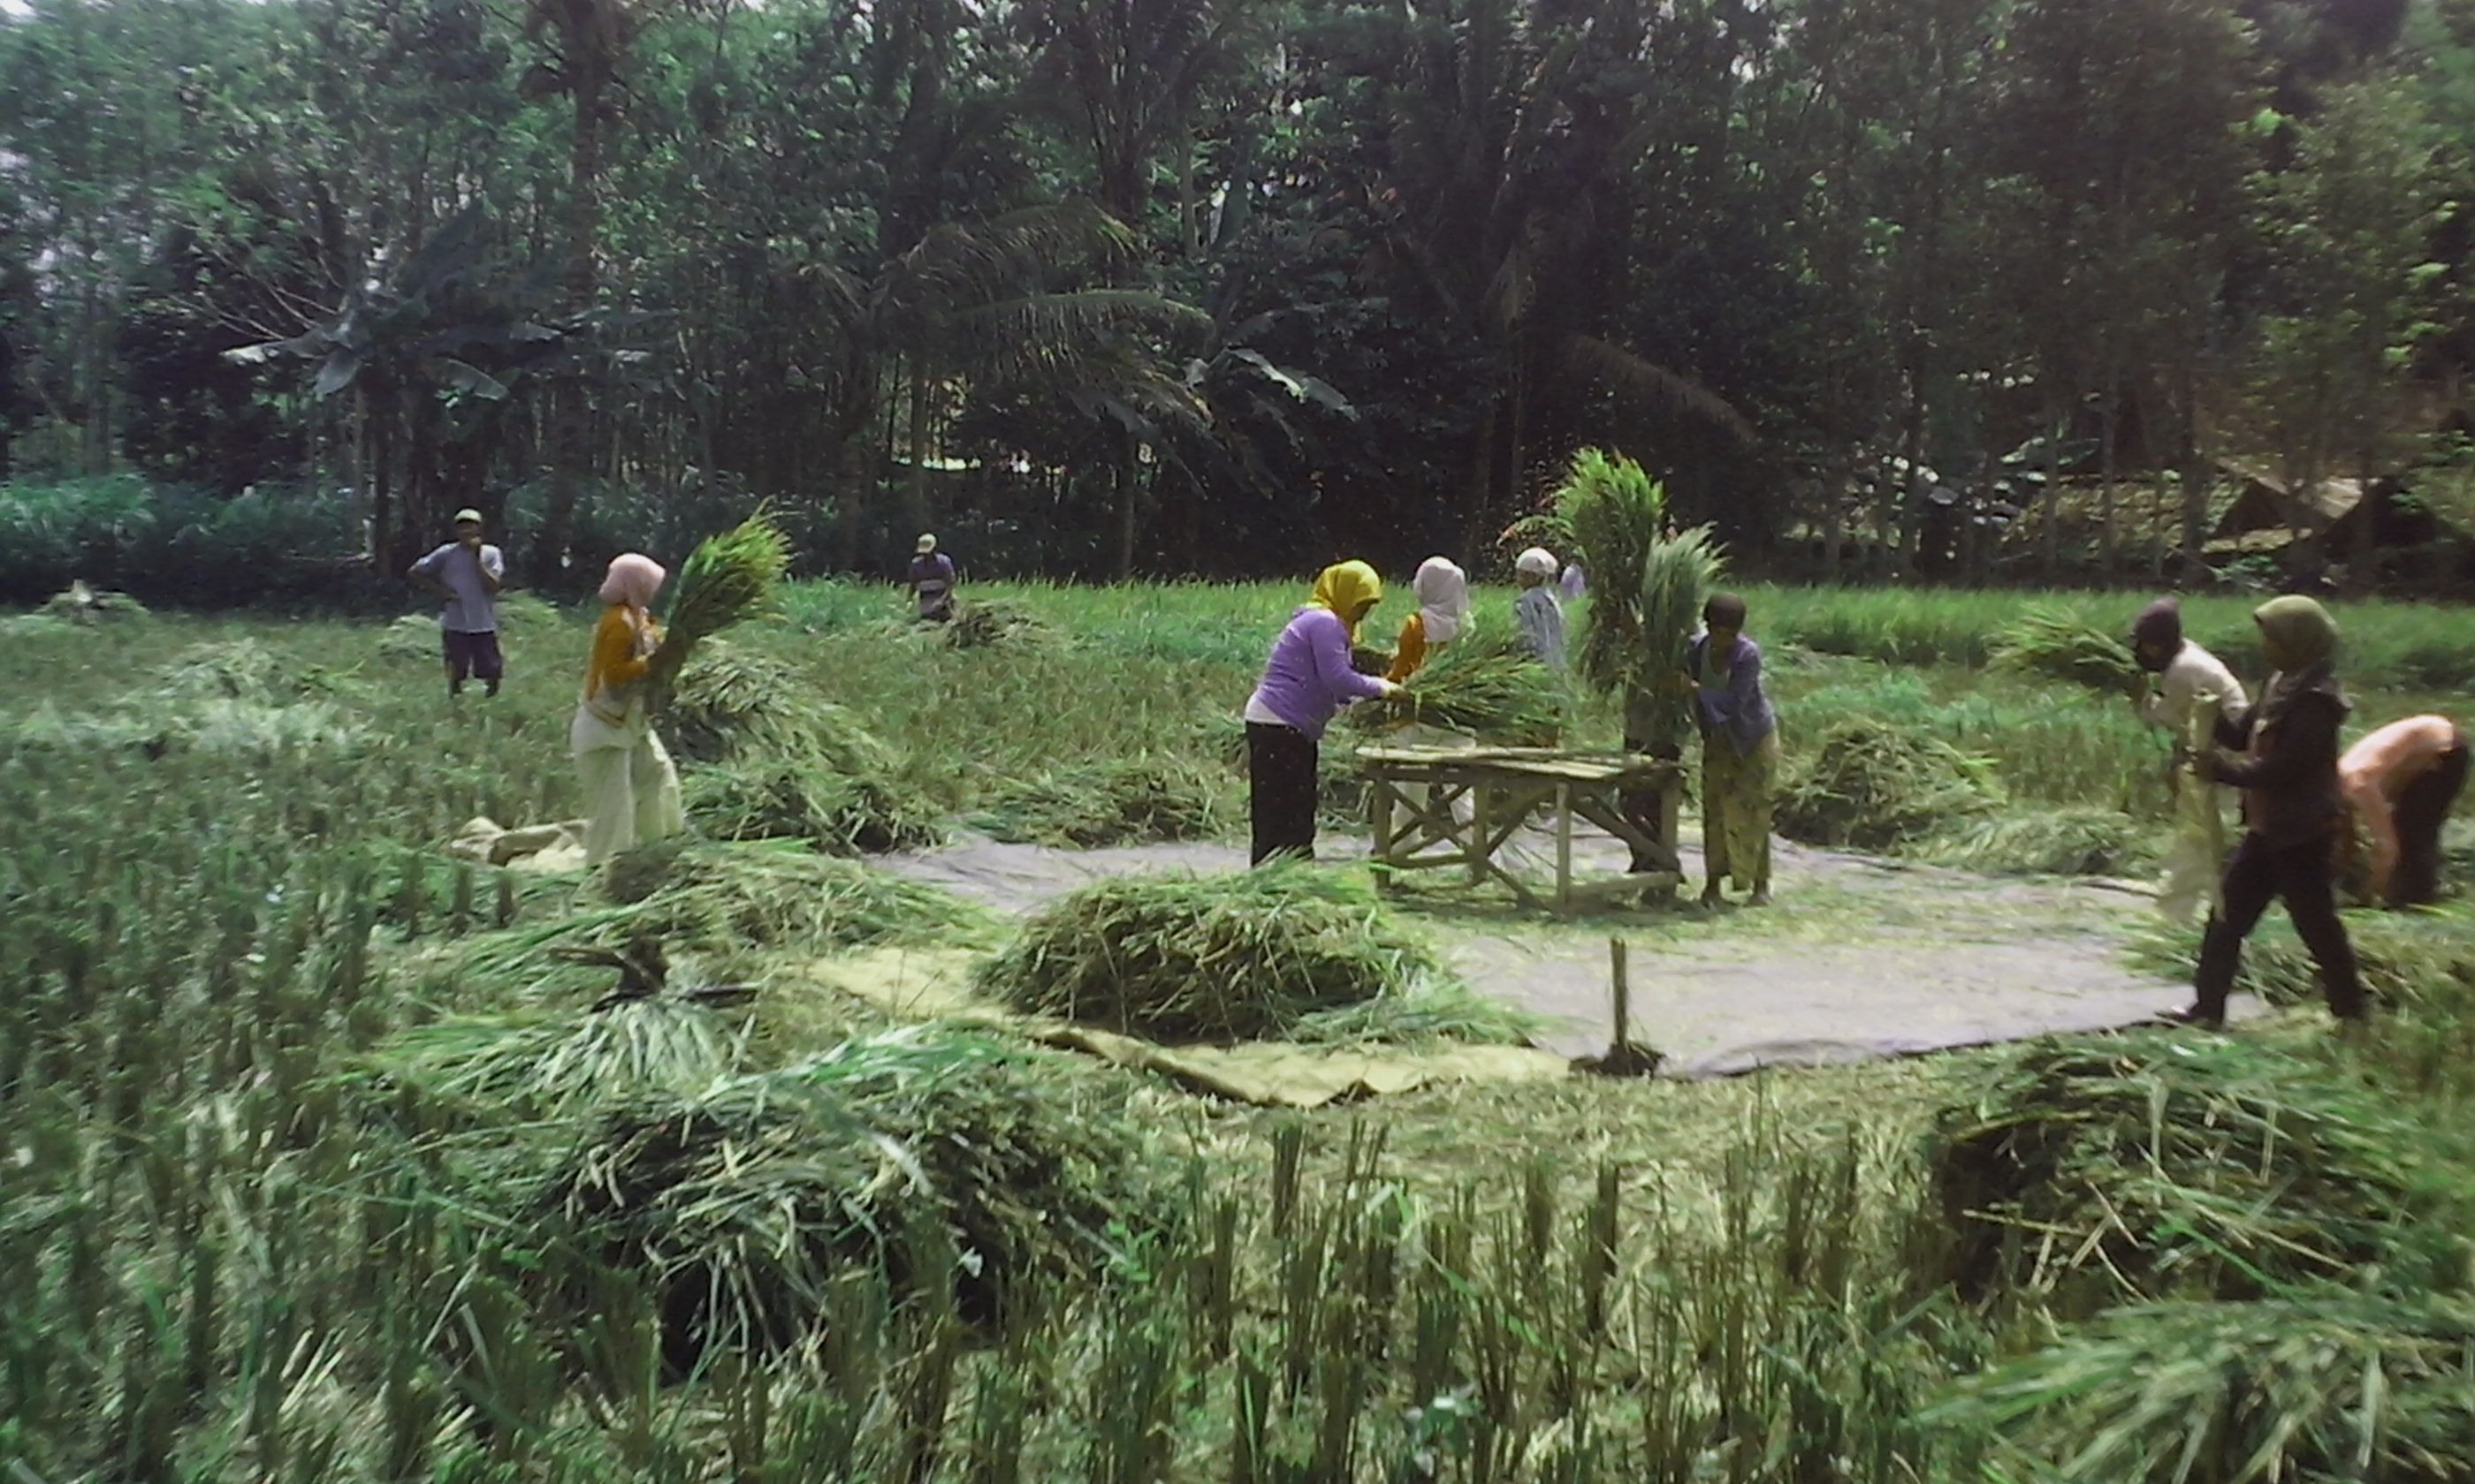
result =
[[1703,633],[1685,646],[1685,685],[1703,735],[1703,905],[1720,878],[1770,905],[1770,801],[1780,777],[1780,720],[1762,693],[1762,650],[1745,638],[1745,599],[1710,594]]

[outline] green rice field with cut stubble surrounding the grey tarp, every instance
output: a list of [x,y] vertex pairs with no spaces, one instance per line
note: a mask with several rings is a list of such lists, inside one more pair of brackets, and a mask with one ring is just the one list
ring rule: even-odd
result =
[[[1020,621],[948,643],[886,591],[802,584],[733,636],[742,685],[681,685],[700,767],[772,727],[812,772],[705,801],[765,838],[609,888],[441,848],[577,811],[582,616],[522,608],[505,693],[455,705],[379,623],[7,621],[0,1469],[2468,1479],[2468,908],[2359,915],[2393,1007],[2366,1036],[2326,1031],[2272,925],[2250,974],[2282,1007],[2223,1039],[1218,1103],[809,972],[1032,957],[871,866],[859,824],[1242,826],[1225,722],[1297,594],[963,599]],[[2072,871],[2104,846],[2111,871],[2158,826],[2163,744],[2126,702],[1982,668],[2017,596],[1747,599],[1792,757],[1871,725],[1973,769],[1975,834],[1903,848]],[[2136,606],[2039,601],[2109,631]],[[2475,616],[2341,623],[2359,722],[2460,707]],[[832,829],[782,838],[780,809]],[[1183,895],[1089,910],[1153,913],[1190,992],[1156,920]],[[1228,927],[1215,952],[1272,952]]]

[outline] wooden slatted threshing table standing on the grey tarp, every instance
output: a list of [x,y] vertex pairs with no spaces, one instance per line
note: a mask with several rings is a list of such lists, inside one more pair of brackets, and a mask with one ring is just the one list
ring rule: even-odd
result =
[[[1676,858],[1676,806],[1683,769],[1638,752],[1557,752],[1552,747],[1361,747],[1374,811],[1376,878],[1396,885],[1403,871],[1463,868],[1470,885],[1500,881],[1525,908],[1539,893],[1505,863],[1505,846],[1547,811],[1554,831],[1554,883],[1547,905],[1572,913],[1591,903],[1668,895],[1683,881]],[[1658,838],[1624,816],[1621,794],[1658,794]],[[1653,871],[1574,881],[1574,819],[1596,824],[1631,846]]]

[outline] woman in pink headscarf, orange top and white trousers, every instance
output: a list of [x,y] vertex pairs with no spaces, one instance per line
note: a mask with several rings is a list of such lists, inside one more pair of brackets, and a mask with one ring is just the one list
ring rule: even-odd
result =
[[651,556],[614,556],[601,579],[601,621],[584,665],[584,695],[567,744],[584,782],[584,863],[599,866],[644,841],[676,834],[678,769],[646,715],[646,668],[661,648],[661,628],[648,608],[668,574]]

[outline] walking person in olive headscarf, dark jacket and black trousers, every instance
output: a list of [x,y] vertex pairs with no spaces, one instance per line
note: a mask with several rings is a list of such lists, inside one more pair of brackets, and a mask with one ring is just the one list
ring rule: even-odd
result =
[[2270,599],[2252,621],[2275,673],[2257,705],[2218,717],[2218,742],[2242,754],[2210,749],[2195,759],[2203,782],[2242,789],[2242,843],[2225,863],[2223,908],[2210,913],[2200,940],[2193,1004],[2173,1019],[2225,1024],[2242,940],[2270,898],[2284,898],[2294,932],[2319,965],[2329,1014],[2356,1021],[2364,1019],[2364,979],[2329,881],[2346,819],[2336,784],[2336,730],[2349,710],[2331,670],[2336,621],[2304,596]]

